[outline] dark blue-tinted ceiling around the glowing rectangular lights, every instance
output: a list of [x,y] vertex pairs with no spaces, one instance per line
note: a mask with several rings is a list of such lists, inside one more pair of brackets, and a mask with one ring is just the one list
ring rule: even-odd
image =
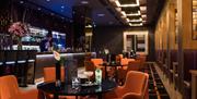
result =
[[[136,0],[119,0],[119,2],[136,3]],[[141,14],[146,15],[146,17],[142,17],[142,20],[146,21],[143,25],[154,25],[164,7],[165,0],[139,0],[139,2],[140,7],[147,7],[146,10],[141,10]],[[72,7],[86,5],[91,8],[91,18],[95,25],[126,25],[120,14],[111,3],[111,0],[24,0],[23,3],[35,4],[36,9],[39,11],[44,9],[49,10],[50,13],[68,18],[72,18]],[[135,13],[138,9],[139,8],[125,8],[121,10]]]

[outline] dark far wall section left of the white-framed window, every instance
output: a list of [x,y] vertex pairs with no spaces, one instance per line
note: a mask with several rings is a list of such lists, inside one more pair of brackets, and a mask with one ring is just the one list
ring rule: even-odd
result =
[[123,51],[123,32],[125,28],[102,26],[93,29],[93,50],[96,52],[104,48],[109,49],[112,53]]

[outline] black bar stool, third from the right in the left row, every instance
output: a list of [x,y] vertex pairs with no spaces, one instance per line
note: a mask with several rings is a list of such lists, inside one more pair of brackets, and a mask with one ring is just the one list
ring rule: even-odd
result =
[[15,50],[5,50],[4,51],[4,66],[3,66],[3,75],[14,74],[16,63],[16,51]]

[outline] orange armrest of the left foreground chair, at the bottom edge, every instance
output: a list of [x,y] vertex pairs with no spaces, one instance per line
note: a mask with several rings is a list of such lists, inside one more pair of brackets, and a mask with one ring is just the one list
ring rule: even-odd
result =
[[20,91],[21,99],[39,99],[38,90],[31,89],[25,91]]

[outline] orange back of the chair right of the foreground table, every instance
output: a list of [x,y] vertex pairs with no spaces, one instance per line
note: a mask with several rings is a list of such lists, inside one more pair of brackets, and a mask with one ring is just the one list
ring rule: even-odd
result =
[[124,94],[127,94],[127,92],[142,94],[144,82],[146,82],[144,73],[129,71],[127,73],[126,82],[123,86]]

